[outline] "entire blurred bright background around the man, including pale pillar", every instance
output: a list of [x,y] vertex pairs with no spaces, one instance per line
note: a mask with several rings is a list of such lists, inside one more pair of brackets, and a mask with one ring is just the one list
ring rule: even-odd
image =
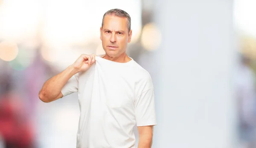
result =
[[77,93],[41,102],[80,54],[103,54],[106,11],[131,15],[151,74],[152,148],[256,148],[255,0],[0,0],[0,148],[75,148]]

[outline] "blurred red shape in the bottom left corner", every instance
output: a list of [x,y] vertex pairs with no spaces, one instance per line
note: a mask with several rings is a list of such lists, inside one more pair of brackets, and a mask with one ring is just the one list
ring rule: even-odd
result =
[[35,140],[33,123],[26,115],[24,103],[15,94],[1,96],[0,132],[7,148],[33,148]]

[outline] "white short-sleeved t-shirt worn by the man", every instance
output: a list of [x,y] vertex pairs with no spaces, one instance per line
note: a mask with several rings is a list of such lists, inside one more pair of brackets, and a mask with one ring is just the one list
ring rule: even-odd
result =
[[77,91],[77,148],[135,148],[134,125],[157,124],[151,76],[133,59],[118,63],[96,56],[61,93]]

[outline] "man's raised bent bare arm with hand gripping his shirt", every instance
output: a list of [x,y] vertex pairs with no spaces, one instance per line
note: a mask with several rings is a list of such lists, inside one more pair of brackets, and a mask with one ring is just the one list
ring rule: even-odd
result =
[[63,94],[61,93],[61,89],[67,81],[76,73],[89,69],[94,62],[95,55],[82,54],[74,64],[44,83],[42,89],[39,91],[39,98],[43,102],[52,102],[62,98]]

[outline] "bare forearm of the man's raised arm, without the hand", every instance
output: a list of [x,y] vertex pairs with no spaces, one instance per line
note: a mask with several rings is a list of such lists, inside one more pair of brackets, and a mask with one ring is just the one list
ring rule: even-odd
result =
[[67,81],[76,73],[77,70],[74,69],[73,65],[70,65],[58,75],[55,75],[47,80],[39,92],[39,98],[43,102],[54,101],[54,99],[56,99],[56,97],[58,97],[58,95],[61,93],[61,89],[64,87]]

